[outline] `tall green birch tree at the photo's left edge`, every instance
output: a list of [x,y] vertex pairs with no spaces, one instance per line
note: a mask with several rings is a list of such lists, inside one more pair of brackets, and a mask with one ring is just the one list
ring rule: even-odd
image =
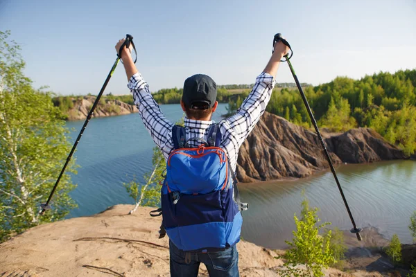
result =
[[[19,46],[10,31],[0,32],[0,241],[44,222],[60,220],[76,204],[66,173],[55,191],[52,209],[40,216],[70,150],[68,130],[51,94],[33,89],[23,74]],[[67,172],[75,172],[74,160]]]

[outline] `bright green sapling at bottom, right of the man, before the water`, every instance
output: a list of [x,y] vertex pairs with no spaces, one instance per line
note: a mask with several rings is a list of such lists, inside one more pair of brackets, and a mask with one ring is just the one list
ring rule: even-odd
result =
[[[335,258],[331,249],[331,231],[325,236],[319,235],[320,229],[330,223],[325,222],[317,226],[318,208],[309,208],[309,202],[305,198],[302,202],[300,220],[294,216],[296,231],[293,231],[293,241],[286,243],[291,247],[284,258],[288,269],[281,272],[281,276],[323,276],[323,268],[328,268]],[[305,265],[306,269],[294,268],[297,265]]]

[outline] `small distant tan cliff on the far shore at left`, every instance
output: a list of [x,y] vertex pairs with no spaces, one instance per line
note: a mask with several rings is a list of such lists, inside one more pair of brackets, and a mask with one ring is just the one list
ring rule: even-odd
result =
[[[94,105],[94,96],[84,96],[83,99],[74,100],[73,107],[68,111],[68,120],[81,120],[87,118],[89,111]],[[139,110],[135,105],[129,105],[119,100],[104,102],[101,100],[92,117],[119,116],[122,114],[132,114]]]

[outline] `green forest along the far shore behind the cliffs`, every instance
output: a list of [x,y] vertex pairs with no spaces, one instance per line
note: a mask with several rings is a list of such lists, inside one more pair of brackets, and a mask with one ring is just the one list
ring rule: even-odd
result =
[[[219,85],[217,100],[227,102],[228,114],[232,114],[248,96],[252,86]],[[416,69],[374,73],[360,80],[337,77],[326,84],[315,87],[302,84],[302,87],[319,127],[326,127],[331,132],[371,127],[406,154],[415,153]],[[182,89],[177,88],[160,89],[153,93],[159,104],[177,104],[181,97]],[[65,113],[78,98],[83,96],[56,96],[53,103]],[[131,95],[114,96],[108,93],[101,98],[103,103],[111,100],[134,104]],[[297,125],[313,127],[294,83],[276,84],[266,110]]]

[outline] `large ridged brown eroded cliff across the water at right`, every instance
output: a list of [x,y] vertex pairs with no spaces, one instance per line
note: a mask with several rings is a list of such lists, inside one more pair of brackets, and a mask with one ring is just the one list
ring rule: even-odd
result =
[[[407,158],[372,129],[322,136],[333,164]],[[301,178],[329,168],[315,132],[268,112],[241,146],[237,163],[236,175],[241,182]]]

